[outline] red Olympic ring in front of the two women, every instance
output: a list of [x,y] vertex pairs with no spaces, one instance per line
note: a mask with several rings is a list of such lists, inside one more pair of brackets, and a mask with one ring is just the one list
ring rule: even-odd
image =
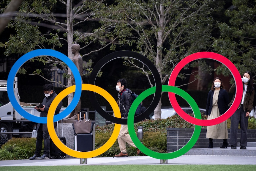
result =
[[171,105],[173,106],[173,109],[184,120],[186,120],[187,122],[192,123],[194,125],[211,126],[211,125],[216,125],[216,124],[219,124],[219,123],[227,120],[236,111],[236,109],[238,108],[238,106],[242,100],[243,83],[241,81],[241,75],[240,75],[239,71],[237,70],[236,66],[230,60],[228,60],[226,57],[224,57],[220,54],[217,54],[217,53],[213,53],[213,52],[197,52],[197,53],[194,53],[194,54],[191,54],[191,55],[185,57],[176,65],[176,67],[173,69],[173,71],[170,75],[168,85],[175,86],[176,78],[177,78],[179,72],[181,71],[181,69],[185,65],[187,65],[189,62],[196,60],[196,59],[202,59],[202,58],[214,59],[216,61],[219,61],[223,65],[225,65],[232,73],[232,75],[235,79],[235,83],[236,83],[236,95],[235,95],[235,99],[234,99],[232,105],[230,106],[230,108],[224,114],[222,114],[221,116],[219,116],[217,118],[214,118],[211,120],[201,120],[201,119],[196,119],[196,118],[188,115],[187,113],[185,113],[179,106],[174,93],[168,92],[168,97],[169,97]]

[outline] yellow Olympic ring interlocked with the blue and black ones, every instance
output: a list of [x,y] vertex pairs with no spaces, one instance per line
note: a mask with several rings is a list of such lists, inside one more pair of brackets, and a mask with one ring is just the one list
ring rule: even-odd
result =
[[[96,85],[92,85],[92,84],[82,84],[82,90],[94,91],[94,92],[102,95],[110,103],[110,105],[115,113],[115,117],[121,118],[121,113],[120,113],[119,107],[118,107],[115,99],[106,90],[104,90],[101,87],[98,87]],[[51,139],[53,140],[54,144],[59,149],[61,149],[61,151],[68,154],[69,156],[82,158],[82,159],[99,156],[100,154],[107,151],[115,143],[115,141],[118,137],[119,131],[121,129],[121,125],[115,123],[113,133],[112,133],[111,137],[109,138],[109,140],[104,145],[102,145],[100,148],[98,148],[96,150],[81,152],[81,151],[75,151],[75,150],[72,150],[71,148],[68,148],[66,145],[64,145],[59,140],[59,138],[55,132],[54,125],[53,125],[53,116],[54,116],[55,110],[56,110],[59,102],[64,97],[66,97],[68,94],[70,94],[72,92],[75,92],[75,85],[70,86],[70,87],[64,89],[63,91],[61,91],[54,98],[53,102],[51,103],[49,111],[48,111],[48,117],[47,117],[47,128],[49,131],[49,135],[50,135]]]

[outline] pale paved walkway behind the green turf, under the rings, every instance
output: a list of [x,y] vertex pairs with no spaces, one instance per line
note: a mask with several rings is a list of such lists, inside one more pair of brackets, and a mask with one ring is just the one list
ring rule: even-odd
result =
[[[164,161],[162,161],[164,163]],[[94,157],[87,159],[86,165],[123,165],[123,164],[161,164],[160,159],[149,156],[133,157]],[[164,164],[254,164],[256,170],[256,156],[192,156],[183,155],[175,159],[167,160]],[[45,159],[45,160],[7,160],[0,161],[1,166],[70,166],[82,165],[80,159]],[[1,170],[1,169],[0,169]]]

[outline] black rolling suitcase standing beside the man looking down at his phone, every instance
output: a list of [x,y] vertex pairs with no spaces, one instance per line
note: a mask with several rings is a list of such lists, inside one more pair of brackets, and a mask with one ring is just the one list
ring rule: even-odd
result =
[[[58,122],[57,122],[57,135],[59,137],[59,126],[58,126]],[[62,120],[61,120],[61,125],[62,124]],[[66,138],[63,137],[63,126],[62,126],[62,137],[59,137],[59,139],[61,140],[61,142],[66,145]],[[50,159],[64,159],[66,157],[66,153],[62,152],[52,141],[52,139],[50,138]]]

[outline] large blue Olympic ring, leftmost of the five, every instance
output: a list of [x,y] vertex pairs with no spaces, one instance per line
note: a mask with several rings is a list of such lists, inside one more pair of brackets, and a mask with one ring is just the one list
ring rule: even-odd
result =
[[80,76],[80,73],[79,73],[77,67],[72,62],[72,60],[70,60],[66,55],[62,54],[61,52],[51,50],[51,49],[37,49],[37,50],[31,51],[31,52],[28,52],[28,53],[24,54],[22,57],[20,57],[15,62],[15,64],[12,66],[12,69],[10,70],[10,73],[8,75],[7,94],[10,99],[10,102],[12,103],[12,106],[20,115],[22,115],[23,117],[25,117],[26,119],[28,119],[32,122],[47,123],[47,117],[34,116],[34,115],[31,115],[30,113],[28,113],[27,111],[25,111],[20,106],[18,101],[16,100],[14,91],[13,91],[13,81],[15,79],[16,73],[17,73],[18,69],[20,68],[20,66],[22,66],[29,59],[32,59],[37,56],[52,56],[52,57],[56,57],[56,58],[62,60],[64,63],[66,63],[69,66],[69,68],[71,69],[71,71],[75,77],[75,81],[76,81],[75,95],[73,97],[73,100],[69,104],[69,106],[61,113],[54,116],[53,122],[57,122],[58,120],[61,120],[64,117],[66,117],[67,115],[69,115],[73,111],[73,109],[75,109],[75,107],[78,104],[78,101],[81,97],[81,93],[82,93],[82,80],[81,80],[81,76]]

